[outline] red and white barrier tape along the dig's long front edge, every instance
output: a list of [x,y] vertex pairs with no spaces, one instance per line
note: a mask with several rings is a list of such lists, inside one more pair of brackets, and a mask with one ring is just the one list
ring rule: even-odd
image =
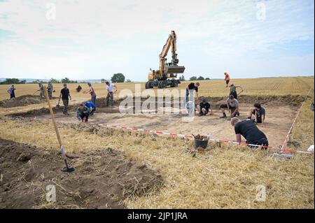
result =
[[[38,119],[36,117],[34,117],[34,120],[41,120],[41,121],[50,121],[50,119]],[[59,123],[70,123],[70,122],[64,122],[64,121],[59,121]],[[123,130],[130,130],[130,131],[142,131],[142,132],[146,132],[146,133],[152,133],[152,134],[156,134],[156,135],[165,135],[165,136],[171,136],[171,137],[177,137],[177,138],[186,138],[188,140],[193,140],[193,135],[189,134],[189,135],[184,135],[184,134],[176,134],[176,133],[168,133],[165,131],[154,131],[154,130],[149,130],[149,129],[139,129],[137,127],[120,127],[119,125],[111,125],[111,124],[105,124],[105,123],[92,123],[90,122],[90,124],[94,124],[97,125],[99,127],[106,127],[106,128],[110,128],[110,129],[123,129]],[[253,145],[253,144],[248,144],[248,143],[237,143],[237,142],[233,142],[233,141],[228,141],[228,140],[216,140],[216,139],[210,139],[210,141],[216,142],[216,143],[225,143],[225,144],[233,144],[233,145],[247,145],[247,146],[251,146],[251,147],[255,147],[255,148],[267,148],[269,149],[273,149],[273,150],[280,150],[281,152],[292,152],[292,153],[304,153],[304,154],[314,154],[314,152],[304,152],[304,151],[295,151],[295,150],[290,150],[290,149],[283,149],[283,148],[276,148],[276,147],[272,147],[272,146],[264,146],[264,145]]]

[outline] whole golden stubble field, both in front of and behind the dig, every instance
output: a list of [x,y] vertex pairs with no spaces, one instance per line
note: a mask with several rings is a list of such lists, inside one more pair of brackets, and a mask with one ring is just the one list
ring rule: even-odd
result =
[[[314,78],[259,78],[232,80],[244,87],[248,95],[307,94],[314,87]],[[184,89],[187,82],[180,88]],[[88,99],[87,94],[74,92],[73,103]],[[84,84],[81,86],[85,87]],[[0,99],[7,97],[6,88],[0,85]],[[37,85],[18,85],[17,94],[32,94]],[[134,89],[133,83],[118,85],[119,89]],[[104,96],[103,84],[94,84],[98,96]],[[142,84],[144,88],[144,84]],[[59,92],[61,85],[55,85]],[[225,96],[228,89],[223,80],[202,82],[202,96]],[[297,119],[291,142],[307,148],[314,143],[314,112],[305,103]],[[55,103],[55,101],[53,102]],[[14,109],[46,107],[45,103]],[[56,150],[57,140],[52,124],[0,119],[0,138]],[[160,171],[165,187],[158,194],[137,199],[127,199],[128,208],[314,208],[314,155],[296,154],[288,161],[267,157],[263,152],[248,148],[223,146],[193,158],[186,153],[191,142],[177,138],[157,138],[152,135],[123,133],[112,129],[59,124],[62,141],[68,152],[111,147],[128,157]],[[91,143],[92,142],[92,143]],[[97,145],[97,146],[95,146]],[[267,200],[255,201],[256,187],[267,187]],[[49,208],[49,207],[47,207]]]

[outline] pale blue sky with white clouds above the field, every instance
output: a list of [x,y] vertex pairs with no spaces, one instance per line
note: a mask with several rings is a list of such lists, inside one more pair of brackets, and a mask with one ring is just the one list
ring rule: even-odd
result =
[[0,78],[144,81],[171,30],[186,78],[314,75],[313,0],[0,0]]

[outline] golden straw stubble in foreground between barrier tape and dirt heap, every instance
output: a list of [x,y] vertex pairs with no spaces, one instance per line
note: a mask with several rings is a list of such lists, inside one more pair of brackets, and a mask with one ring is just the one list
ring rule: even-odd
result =
[[[57,148],[52,124],[7,117],[0,124],[6,129],[0,138]],[[314,208],[314,156],[300,154],[288,161],[223,146],[193,158],[186,153],[191,142],[178,138],[88,125],[59,127],[68,152],[111,147],[160,171],[165,179],[160,193],[127,199],[128,208]],[[265,202],[255,201],[258,185],[267,187]]]

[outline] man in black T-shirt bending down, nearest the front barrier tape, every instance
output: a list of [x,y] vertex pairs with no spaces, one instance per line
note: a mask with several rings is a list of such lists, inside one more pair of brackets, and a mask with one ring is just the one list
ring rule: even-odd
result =
[[[269,145],[267,136],[251,120],[241,121],[237,117],[233,117],[231,125],[235,129],[237,143],[241,143],[241,136],[243,136],[246,139],[246,144],[262,145],[262,148],[267,149]],[[255,148],[251,145],[249,147]]]

